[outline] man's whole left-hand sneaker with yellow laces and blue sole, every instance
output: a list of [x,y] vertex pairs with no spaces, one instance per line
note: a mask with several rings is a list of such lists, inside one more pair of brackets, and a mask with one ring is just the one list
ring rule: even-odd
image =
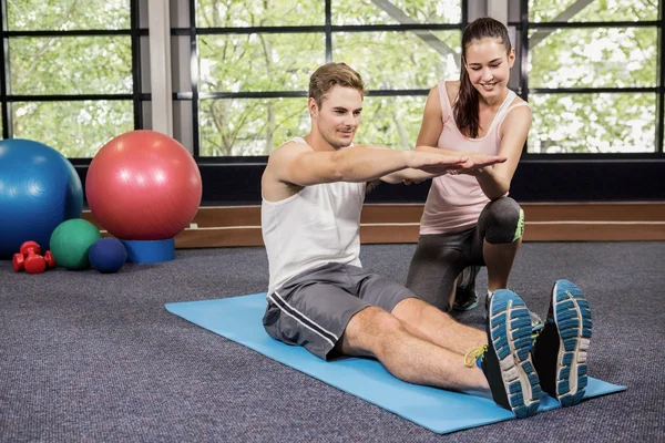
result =
[[529,310],[524,301],[508,289],[497,290],[489,308],[488,346],[482,352],[473,350],[474,357],[488,379],[494,402],[520,419],[533,415],[542,391],[531,361]]

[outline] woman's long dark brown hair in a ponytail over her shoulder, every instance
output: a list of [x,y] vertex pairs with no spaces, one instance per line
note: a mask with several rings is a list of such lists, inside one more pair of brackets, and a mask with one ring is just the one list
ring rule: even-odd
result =
[[462,69],[460,72],[460,91],[454,103],[454,121],[462,134],[468,137],[478,137],[479,131],[479,100],[478,91],[471,84],[469,73],[467,72],[467,47],[475,40],[497,39],[510,54],[511,44],[508,37],[508,29],[494,19],[489,17],[472,21],[462,33]]

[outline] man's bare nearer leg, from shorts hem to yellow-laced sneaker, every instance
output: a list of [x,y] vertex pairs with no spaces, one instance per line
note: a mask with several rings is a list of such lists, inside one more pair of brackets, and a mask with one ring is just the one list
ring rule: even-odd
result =
[[351,318],[339,350],[347,356],[375,357],[392,375],[410,383],[490,393],[482,370],[475,364],[466,367],[463,353],[418,338],[380,308],[366,308]]

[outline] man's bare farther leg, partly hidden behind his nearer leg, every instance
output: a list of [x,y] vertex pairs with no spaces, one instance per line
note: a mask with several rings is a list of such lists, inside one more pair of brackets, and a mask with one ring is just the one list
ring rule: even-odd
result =
[[448,313],[417,298],[407,298],[392,309],[407,331],[413,336],[464,354],[488,344],[487,333],[456,321]]

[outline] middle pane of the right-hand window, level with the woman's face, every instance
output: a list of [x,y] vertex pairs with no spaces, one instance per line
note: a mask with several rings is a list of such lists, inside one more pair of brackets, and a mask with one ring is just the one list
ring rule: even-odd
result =
[[530,42],[530,87],[656,85],[655,28],[559,29],[549,35],[545,32],[549,30],[531,37],[535,44]]

